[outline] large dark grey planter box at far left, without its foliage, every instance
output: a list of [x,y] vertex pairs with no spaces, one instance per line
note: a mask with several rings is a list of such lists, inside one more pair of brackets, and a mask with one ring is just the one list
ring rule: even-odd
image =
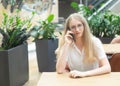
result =
[[27,44],[0,51],[0,86],[22,86],[29,79]]

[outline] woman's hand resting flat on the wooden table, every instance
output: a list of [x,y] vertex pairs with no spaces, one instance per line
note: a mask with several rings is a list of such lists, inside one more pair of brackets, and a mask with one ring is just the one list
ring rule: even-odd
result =
[[71,78],[82,78],[85,77],[85,72],[80,72],[77,70],[70,71],[70,77]]

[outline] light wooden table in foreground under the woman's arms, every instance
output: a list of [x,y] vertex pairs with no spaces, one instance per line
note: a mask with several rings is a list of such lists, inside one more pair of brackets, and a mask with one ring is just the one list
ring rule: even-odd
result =
[[76,79],[69,73],[43,72],[37,86],[120,86],[120,72]]

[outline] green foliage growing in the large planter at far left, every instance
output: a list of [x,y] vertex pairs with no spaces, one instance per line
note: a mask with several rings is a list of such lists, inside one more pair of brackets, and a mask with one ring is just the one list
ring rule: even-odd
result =
[[0,26],[2,34],[1,49],[7,50],[23,44],[30,37],[29,28],[31,27],[31,18],[22,20],[18,12],[14,16],[8,16],[3,13],[4,19]]

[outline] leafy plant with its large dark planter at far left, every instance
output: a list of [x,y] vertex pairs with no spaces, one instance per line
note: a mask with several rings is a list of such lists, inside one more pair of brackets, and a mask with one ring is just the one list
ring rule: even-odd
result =
[[18,13],[8,16],[0,26],[0,86],[22,86],[29,79],[27,39],[30,20],[22,20]]

